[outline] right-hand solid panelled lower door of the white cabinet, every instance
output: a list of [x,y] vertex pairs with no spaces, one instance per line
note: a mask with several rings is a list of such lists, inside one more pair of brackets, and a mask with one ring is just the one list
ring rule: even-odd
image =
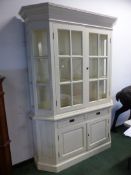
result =
[[110,140],[109,119],[95,119],[87,124],[88,150]]

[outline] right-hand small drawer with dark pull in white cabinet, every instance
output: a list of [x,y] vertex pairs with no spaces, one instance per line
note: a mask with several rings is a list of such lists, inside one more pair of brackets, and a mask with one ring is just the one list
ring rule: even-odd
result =
[[110,109],[109,108],[106,108],[106,109],[100,109],[100,110],[96,110],[96,111],[93,111],[93,112],[89,112],[87,115],[86,115],[86,119],[94,119],[94,118],[97,118],[97,117],[104,117],[104,116],[108,116],[110,114]]

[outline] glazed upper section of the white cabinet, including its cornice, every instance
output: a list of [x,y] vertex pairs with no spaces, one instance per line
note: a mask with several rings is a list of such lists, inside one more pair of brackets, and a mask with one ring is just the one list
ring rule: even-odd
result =
[[116,18],[52,3],[22,7],[20,15],[26,22],[36,116],[54,116],[111,101],[110,40]]

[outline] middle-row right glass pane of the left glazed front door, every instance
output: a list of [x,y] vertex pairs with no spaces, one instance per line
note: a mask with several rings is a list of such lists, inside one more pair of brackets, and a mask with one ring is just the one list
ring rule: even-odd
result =
[[83,61],[82,58],[73,58],[72,59],[72,66],[73,66],[73,80],[82,80],[82,67],[83,67]]

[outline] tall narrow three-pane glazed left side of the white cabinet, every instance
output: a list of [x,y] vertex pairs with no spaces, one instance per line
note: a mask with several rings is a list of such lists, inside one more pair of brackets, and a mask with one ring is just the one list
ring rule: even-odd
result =
[[[50,37],[47,24],[32,23],[29,27],[28,47],[30,50],[29,74],[33,89],[35,114],[48,115],[52,110]],[[29,38],[30,37],[30,38]]]

